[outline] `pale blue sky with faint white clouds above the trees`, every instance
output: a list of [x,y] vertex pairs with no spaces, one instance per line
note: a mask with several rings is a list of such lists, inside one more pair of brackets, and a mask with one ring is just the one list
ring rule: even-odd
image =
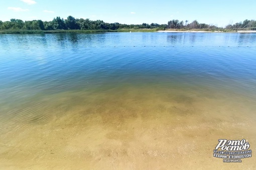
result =
[[0,20],[52,20],[56,16],[126,24],[197,20],[225,26],[256,19],[256,0],[0,0]]

